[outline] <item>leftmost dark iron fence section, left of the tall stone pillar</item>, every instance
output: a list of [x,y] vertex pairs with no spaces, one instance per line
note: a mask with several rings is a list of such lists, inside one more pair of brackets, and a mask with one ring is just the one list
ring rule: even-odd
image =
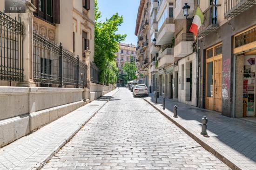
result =
[[23,25],[0,12],[0,80],[23,82]]

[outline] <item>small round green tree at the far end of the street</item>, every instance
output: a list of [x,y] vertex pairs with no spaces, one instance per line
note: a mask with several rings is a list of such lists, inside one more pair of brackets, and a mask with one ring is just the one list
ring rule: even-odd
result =
[[125,82],[134,80],[136,78],[137,67],[134,61],[132,61],[131,63],[126,62],[122,67],[122,70],[124,71],[124,74],[125,74]]

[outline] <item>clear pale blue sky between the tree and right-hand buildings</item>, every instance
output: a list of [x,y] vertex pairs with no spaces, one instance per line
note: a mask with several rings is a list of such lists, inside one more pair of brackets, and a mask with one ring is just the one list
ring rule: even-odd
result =
[[137,37],[134,32],[139,3],[140,0],[98,0],[101,20],[110,18],[114,13],[123,16],[123,23],[118,30],[120,34],[127,34],[123,43],[137,45]]

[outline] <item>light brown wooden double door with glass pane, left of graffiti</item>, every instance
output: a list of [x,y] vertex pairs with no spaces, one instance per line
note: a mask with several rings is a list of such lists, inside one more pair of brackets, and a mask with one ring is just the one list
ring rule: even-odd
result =
[[206,109],[222,112],[222,43],[206,50]]

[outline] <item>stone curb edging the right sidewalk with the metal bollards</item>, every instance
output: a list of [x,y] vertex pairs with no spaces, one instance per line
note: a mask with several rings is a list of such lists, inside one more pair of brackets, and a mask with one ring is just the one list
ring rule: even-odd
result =
[[[173,122],[176,126],[178,126],[179,128],[182,129],[182,131],[184,131],[186,134],[188,134],[192,139],[194,139],[197,143],[199,143],[200,145],[202,145],[202,147],[209,151],[210,153],[212,153],[214,156],[216,156],[218,159],[220,159],[224,164],[226,164],[227,166],[229,166],[229,168],[231,168],[232,170],[242,170],[241,168],[239,168],[236,164],[234,164],[231,160],[229,160],[229,157],[224,157],[222,155],[222,153],[220,153],[219,151],[216,151],[214,148],[212,148],[210,145],[208,145],[207,143],[205,143],[204,141],[202,141],[200,138],[198,138],[195,134],[193,134],[192,132],[189,132],[189,130],[187,130],[184,126],[182,126],[179,122],[177,122],[174,118],[170,117],[168,114],[164,113],[164,111],[158,107],[156,107],[154,105],[154,103],[152,103],[151,101],[148,101],[147,99],[143,98],[144,101],[148,102],[148,104],[150,104],[152,107],[154,107],[157,111],[159,111],[160,113],[162,113],[163,116],[165,116],[168,120],[170,120],[171,122]],[[170,111],[171,112],[171,111]],[[171,112],[172,113],[172,112]]]

